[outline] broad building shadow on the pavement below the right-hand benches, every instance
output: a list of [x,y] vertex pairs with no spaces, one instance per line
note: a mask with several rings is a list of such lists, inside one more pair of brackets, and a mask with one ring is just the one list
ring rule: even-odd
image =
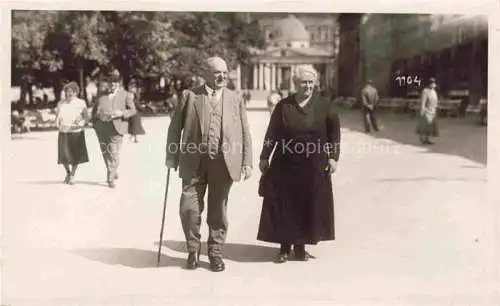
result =
[[[364,124],[359,110],[339,108],[340,124],[356,132],[364,133]],[[417,117],[409,114],[377,113],[381,131],[369,135],[389,139],[401,144],[421,147],[415,133]],[[486,166],[487,128],[478,124],[477,116],[465,118],[440,118],[440,137],[433,139],[436,144],[425,146],[427,153],[460,156]]]

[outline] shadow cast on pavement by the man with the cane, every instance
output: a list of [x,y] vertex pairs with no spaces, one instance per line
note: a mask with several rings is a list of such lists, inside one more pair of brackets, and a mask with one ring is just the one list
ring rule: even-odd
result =
[[[129,248],[97,248],[74,250],[73,254],[107,265],[122,265],[129,268],[156,268],[157,252]],[[160,267],[182,267],[185,259],[160,256]]]

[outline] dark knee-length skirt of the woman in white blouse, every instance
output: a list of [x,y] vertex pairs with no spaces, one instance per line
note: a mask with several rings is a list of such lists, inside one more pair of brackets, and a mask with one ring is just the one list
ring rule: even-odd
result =
[[83,164],[89,161],[85,131],[79,133],[59,132],[58,136],[58,164]]

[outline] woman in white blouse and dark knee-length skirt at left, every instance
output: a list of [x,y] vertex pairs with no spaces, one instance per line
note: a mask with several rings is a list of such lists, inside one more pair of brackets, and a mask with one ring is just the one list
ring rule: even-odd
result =
[[83,128],[90,120],[85,101],[78,98],[80,88],[70,82],[63,88],[64,99],[57,105],[58,164],[66,170],[65,184],[73,185],[79,164],[89,161]]

